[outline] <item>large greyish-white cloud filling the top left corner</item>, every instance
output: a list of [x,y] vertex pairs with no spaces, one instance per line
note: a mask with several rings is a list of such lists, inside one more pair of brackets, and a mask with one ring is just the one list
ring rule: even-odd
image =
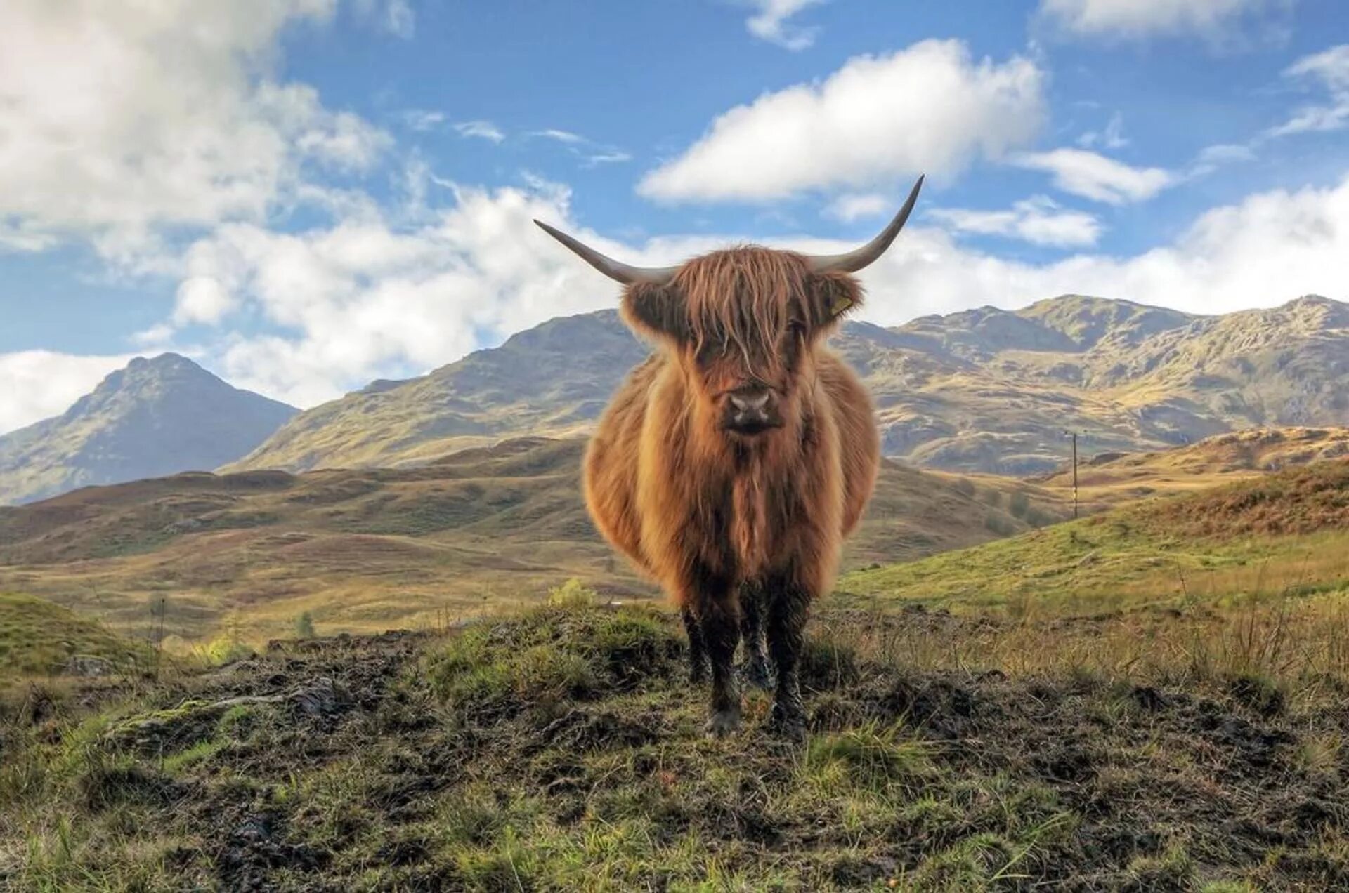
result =
[[4,243],[112,254],[163,227],[262,220],[306,162],[368,167],[384,135],[271,78],[281,32],[336,1],[0,4]]

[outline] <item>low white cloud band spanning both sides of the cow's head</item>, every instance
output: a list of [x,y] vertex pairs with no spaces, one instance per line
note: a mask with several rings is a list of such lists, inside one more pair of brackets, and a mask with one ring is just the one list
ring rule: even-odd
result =
[[[244,337],[223,326],[216,341],[208,340],[206,359],[243,387],[310,406],[372,378],[449,363],[553,316],[615,306],[618,287],[541,233],[534,217],[638,264],[679,263],[745,239],[625,244],[580,225],[568,189],[538,179],[496,190],[455,186],[453,194],[451,208],[429,210],[411,228],[368,216],[302,233],[229,224],[200,240],[185,279],[209,277],[233,308],[247,305],[274,330]],[[1041,244],[1086,246],[1098,231],[1089,214],[1074,219],[1078,212],[1041,197],[1009,212],[934,213],[958,232]],[[811,237],[770,243],[813,252],[854,247]],[[1344,299],[1344,256],[1349,178],[1330,189],[1275,190],[1213,209],[1176,241],[1126,258],[1082,252],[1054,263],[1009,260],[970,248],[944,228],[911,223],[862,274],[871,294],[865,318],[893,325],[923,313],[1016,308],[1070,291],[1201,313],[1271,306],[1313,291]],[[198,316],[225,306],[214,286],[204,294]]]

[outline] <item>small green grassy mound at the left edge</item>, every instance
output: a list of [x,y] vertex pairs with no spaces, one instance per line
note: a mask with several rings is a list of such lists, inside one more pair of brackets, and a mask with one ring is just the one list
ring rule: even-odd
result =
[[98,621],[28,595],[0,592],[0,679],[57,676],[71,658],[96,658],[111,672],[150,666],[150,649]]

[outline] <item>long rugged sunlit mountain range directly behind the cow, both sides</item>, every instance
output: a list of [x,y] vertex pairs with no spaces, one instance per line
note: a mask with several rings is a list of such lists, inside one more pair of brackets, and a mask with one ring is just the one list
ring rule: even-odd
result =
[[[1226,316],[1062,295],[890,329],[849,322],[832,345],[876,398],[885,453],[929,468],[1048,472],[1068,455],[1066,430],[1094,453],[1349,424],[1349,305],[1315,295]],[[229,469],[415,463],[580,433],[646,351],[612,310],[552,320],[301,413]]]

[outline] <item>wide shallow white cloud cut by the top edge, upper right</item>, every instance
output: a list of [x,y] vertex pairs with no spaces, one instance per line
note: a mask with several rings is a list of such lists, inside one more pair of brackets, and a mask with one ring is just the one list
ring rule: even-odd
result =
[[1283,0],[1040,0],[1040,15],[1083,36],[1214,36]]

